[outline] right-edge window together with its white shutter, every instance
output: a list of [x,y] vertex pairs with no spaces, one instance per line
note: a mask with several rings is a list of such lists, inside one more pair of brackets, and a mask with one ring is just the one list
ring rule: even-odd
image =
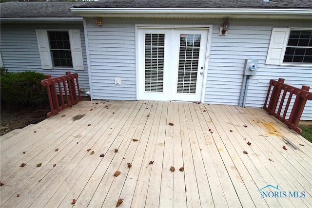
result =
[[312,63],[312,30],[273,28],[266,64]]

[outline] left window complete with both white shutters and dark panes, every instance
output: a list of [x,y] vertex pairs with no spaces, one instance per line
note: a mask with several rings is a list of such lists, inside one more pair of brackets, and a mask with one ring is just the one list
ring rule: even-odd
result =
[[42,69],[84,70],[79,30],[36,30]]

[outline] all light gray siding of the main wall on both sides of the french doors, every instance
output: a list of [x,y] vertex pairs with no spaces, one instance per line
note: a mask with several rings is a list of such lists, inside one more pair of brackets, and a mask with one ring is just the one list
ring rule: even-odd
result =
[[[205,103],[238,105],[245,59],[259,60],[251,77],[246,106],[262,107],[270,79],[312,88],[311,67],[265,65],[273,27],[309,27],[308,21],[230,19],[227,36],[219,36],[224,19],[87,19],[93,99],[136,99],[135,24],[212,24]],[[269,25],[269,26],[268,26]],[[114,78],[121,77],[122,85]],[[312,120],[308,101],[303,120]]]

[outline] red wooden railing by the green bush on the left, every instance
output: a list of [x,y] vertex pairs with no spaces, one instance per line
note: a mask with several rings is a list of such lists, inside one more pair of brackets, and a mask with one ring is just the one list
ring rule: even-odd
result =
[[70,74],[70,72],[66,72],[65,76],[55,78],[51,78],[51,75],[46,75],[45,78],[41,80],[41,85],[46,87],[48,91],[51,108],[51,112],[47,113],[48,116],[57,114],[81,100],[77,73]]

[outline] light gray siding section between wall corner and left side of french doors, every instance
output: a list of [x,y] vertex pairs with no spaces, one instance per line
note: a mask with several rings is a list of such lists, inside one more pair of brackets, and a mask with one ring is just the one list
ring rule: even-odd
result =
[[[93,99],[136,100],[134,24],[87,21]],[[115,77],[121,85],[115,85]]]

